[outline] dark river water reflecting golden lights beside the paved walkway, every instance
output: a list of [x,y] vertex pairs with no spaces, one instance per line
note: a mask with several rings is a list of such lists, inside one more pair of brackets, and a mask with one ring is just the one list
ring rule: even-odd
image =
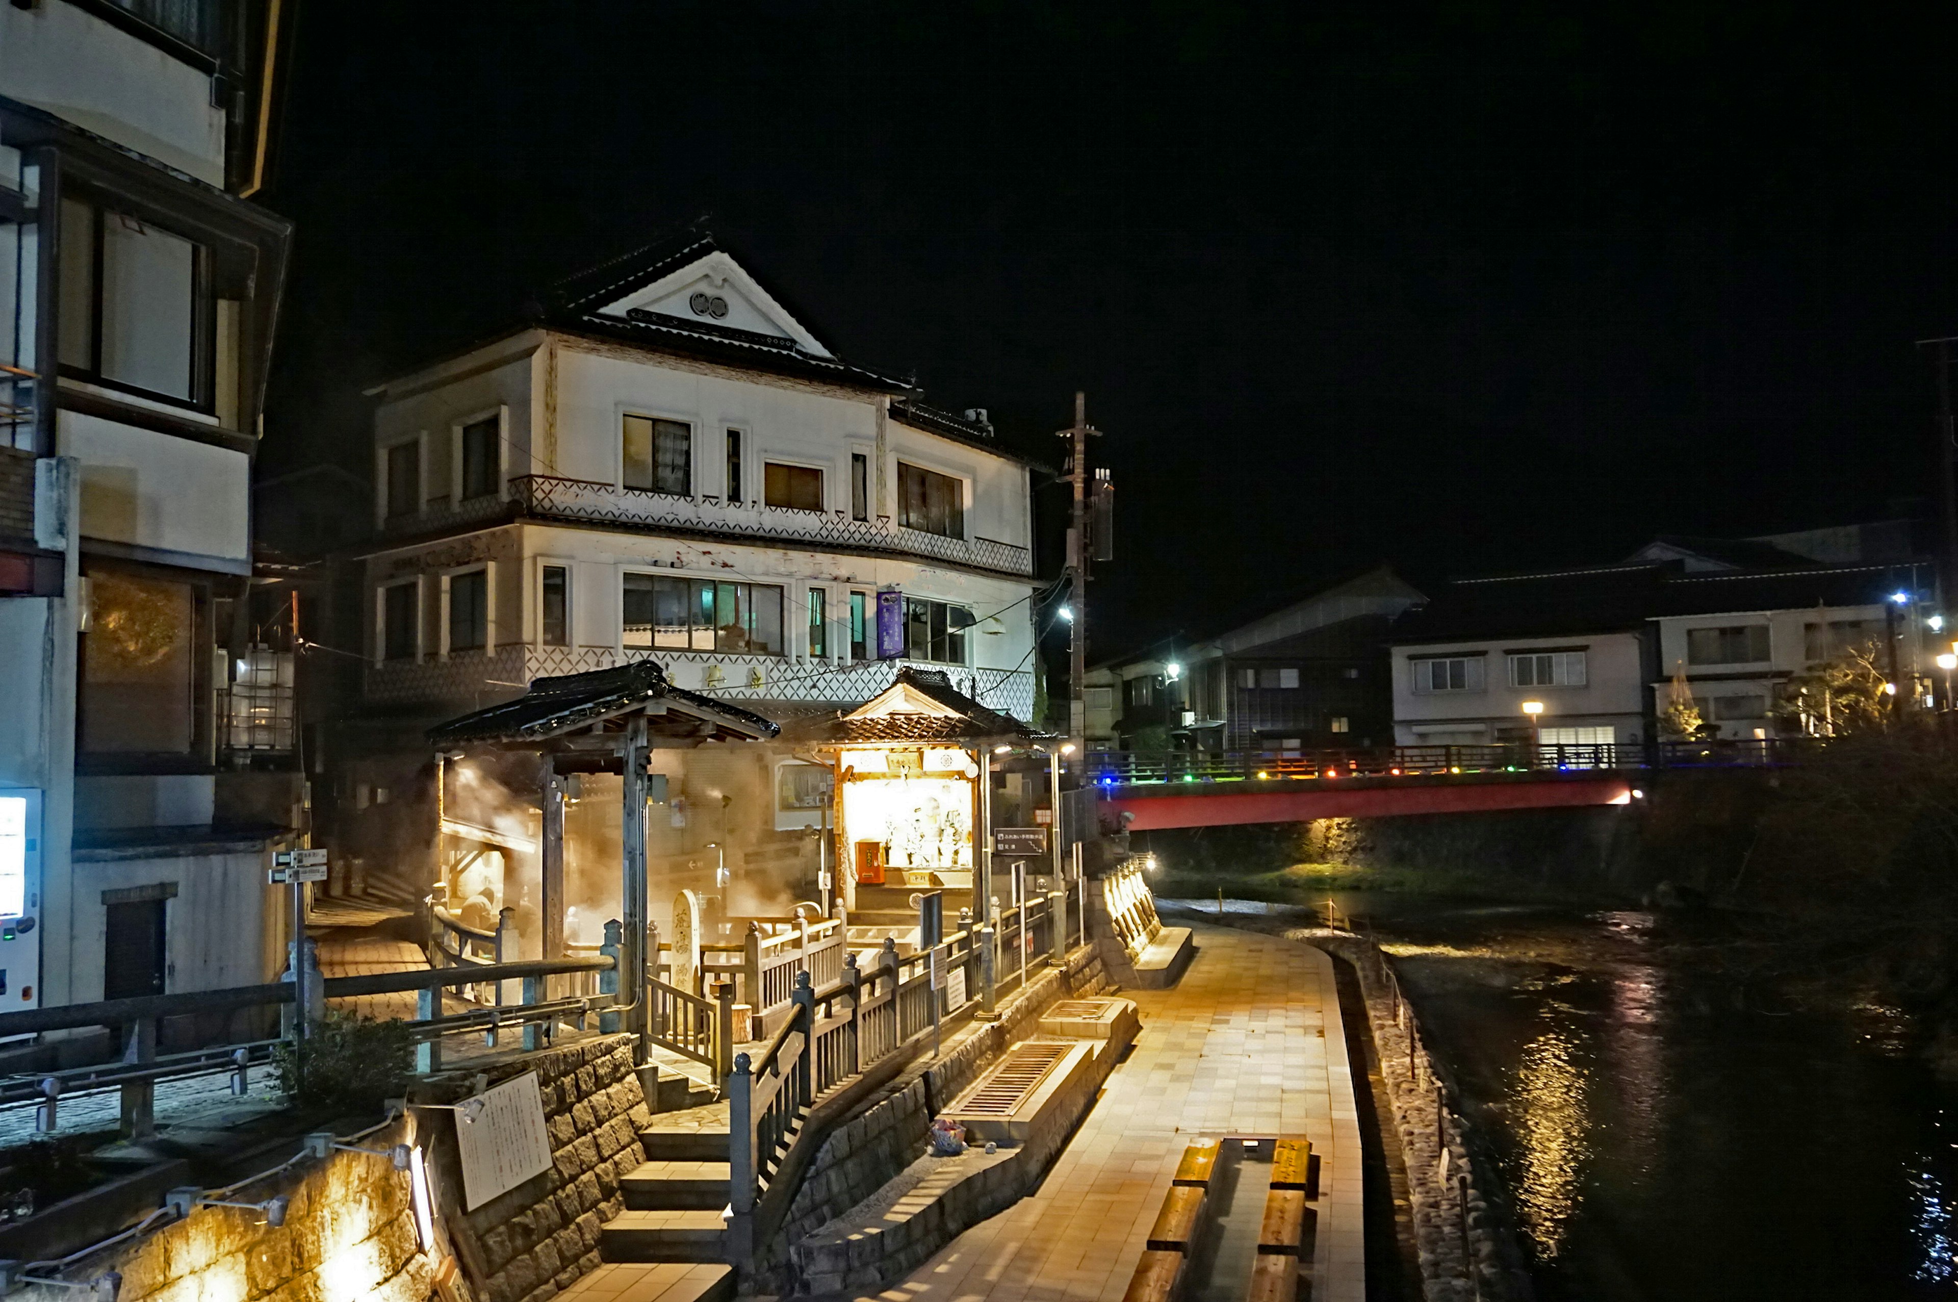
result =
[[1500,1151],[1539,1296],[1958,1296],[1958,1094],[1884,1010],[1737,1010],[1649,912],[1335,899]]

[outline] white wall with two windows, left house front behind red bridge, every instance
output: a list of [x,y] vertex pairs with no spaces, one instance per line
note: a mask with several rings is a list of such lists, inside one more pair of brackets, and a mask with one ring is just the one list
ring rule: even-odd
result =
[[[1510,650],[1586,648],[1584,687],[1512,687]],[[1410,658],[1488,652],[1486,685],[1482,691],[1414,693]],[[1611,724],[1619,742],[1631,742],[1633,732],[1645,740],[1645,670],[1639,660],[1639,636],[1633,632],[1602,632],[1592,636],[1502,638],[1484,642],[1437,642],[1394,648],[1394,740],[1420,746],[1425,738],[1414,724],[1461,721],[1488,724],[1488,740],[1498,726],[1527,726],[1523,701],[1543,701],[1543,726]]]

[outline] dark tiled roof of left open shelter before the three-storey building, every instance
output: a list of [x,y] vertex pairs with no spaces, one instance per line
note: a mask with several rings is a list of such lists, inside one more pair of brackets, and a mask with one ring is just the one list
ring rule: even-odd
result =
[[666,707],[670,724],[683,722],[701,740],[768,740],[781,730],[756,713],[674,687],[658,664],[634,660],[613,670],[538,677],[515,701],[429,728],[429,740],[435,746],[548,742],[570,732],[603,730],[607,722],[654,703]]

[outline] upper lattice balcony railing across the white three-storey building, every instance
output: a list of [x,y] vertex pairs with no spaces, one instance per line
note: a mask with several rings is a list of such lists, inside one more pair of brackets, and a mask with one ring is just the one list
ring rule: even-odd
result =
[[850,519],[846,511],[795,511],[758,501],[721,501],[719,497],[677,497],[638,488],[617,488],[593,480],[562,480],[527,474],[509,482],[507,501],[474,497],[456,505],[429,503],[419,515],[388,521],[392,535],[421,533],[458,523],[478,523],[497,517],[531,517],[609,525],[630,531],[668,531],[730,535],[758,542],[801,542],[869,550],[893,556],[922,556],[973,570],[997,574],[1032,574],[1034,554],[1024,546],[995,538],[946,538],[893,523]]

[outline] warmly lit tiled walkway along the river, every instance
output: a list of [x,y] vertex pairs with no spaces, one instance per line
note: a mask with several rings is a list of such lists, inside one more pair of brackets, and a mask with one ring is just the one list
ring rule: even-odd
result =
[[1134,1055],[1040,1192],[967,1230],[883,1302],[1116,1302],[1198,1136],[1304,1134],[1322,1155],[1314,1302],[1361,1302],[1359,1124],[1331,959],[1310,946],[1196,928],[1200,953],[1142,1006]]

